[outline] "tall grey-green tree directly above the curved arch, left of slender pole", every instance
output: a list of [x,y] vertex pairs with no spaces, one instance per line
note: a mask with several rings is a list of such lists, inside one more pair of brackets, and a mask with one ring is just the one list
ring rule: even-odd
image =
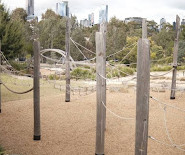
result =
[[41,46],[46,48],[65,49],[65,18],[48,9],[38,23]]

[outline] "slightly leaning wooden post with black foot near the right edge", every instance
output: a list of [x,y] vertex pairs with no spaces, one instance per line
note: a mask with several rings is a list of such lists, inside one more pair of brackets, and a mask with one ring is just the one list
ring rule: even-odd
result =
[[180,18],[177,15],[176,16],[176,36],[175,36],[174,52],[173,52],[173,73],[172,73],[171,96],[170,96],[170,99],[172,100],[175,99],[179,34],[180,34]]

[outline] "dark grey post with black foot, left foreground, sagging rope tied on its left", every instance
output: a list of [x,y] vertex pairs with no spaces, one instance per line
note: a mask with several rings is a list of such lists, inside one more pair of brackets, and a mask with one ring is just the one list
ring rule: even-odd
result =
[[41,139],[40,131],[40,42],[34,41],[34,140]]

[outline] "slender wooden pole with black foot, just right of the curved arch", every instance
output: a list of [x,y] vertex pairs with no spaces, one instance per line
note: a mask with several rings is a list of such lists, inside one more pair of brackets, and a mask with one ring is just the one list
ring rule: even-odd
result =
[[66,21],[66,102],[70,102],[70,18],[69,7],[67,7]]

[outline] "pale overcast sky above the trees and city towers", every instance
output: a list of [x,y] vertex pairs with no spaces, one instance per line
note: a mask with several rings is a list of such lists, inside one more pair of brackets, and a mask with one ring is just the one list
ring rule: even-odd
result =
[[[34,0],[35,15],[41,16],[48,8],[56,10],[56,3],[61,0]],[[26,6],[26,0],[2,0],[10,10]],[[159,23],[161,18],[167,22],[175,21],[176,14],[185,18],[185,0],[69,0],[70,12],[77,18],[85,19],[102,5],[109,6],[109,19],[113,16],[124,20],[126,17],[143,17]],[[98,17],[95,15],[95,20]]]

